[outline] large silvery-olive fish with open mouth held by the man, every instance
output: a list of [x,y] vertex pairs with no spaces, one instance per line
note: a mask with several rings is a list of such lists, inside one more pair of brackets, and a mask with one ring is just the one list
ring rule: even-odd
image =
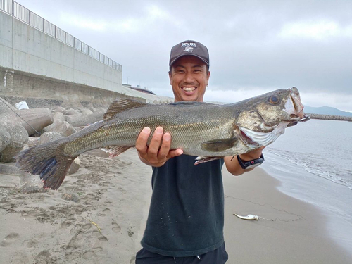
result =
[[171,149],[199,156],[197,164],[268,146],[286,127],[308,119],[296,87],[225,105],[152,105],[119,99],[111,104],[103,120],[69,137],[26,149],[16,158],[22,170],[40,175],[44,188],[58,189],[70,164],[81,153],[110,147],[111,155],[117,156],[134,146],[144,127],[151,128],[151,137],[156,127],[163,127],[171,134]]

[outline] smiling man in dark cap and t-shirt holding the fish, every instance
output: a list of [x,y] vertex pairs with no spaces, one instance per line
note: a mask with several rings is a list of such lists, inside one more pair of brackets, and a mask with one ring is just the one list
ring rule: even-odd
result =
[[[177,44],[169,65],[175,102],[202,102],[210,77],[206,46],[191,40]],[[163,127],[147,146],[150,133],[145,127],[136,142],[139,158],[153,168],[151,206],[136,263],[225,263],[222,165],[241,175],[253,170],[246,169],[246,161],[263,162],[263,148],[195,166],[195,157],[170,149],[172,139]]]

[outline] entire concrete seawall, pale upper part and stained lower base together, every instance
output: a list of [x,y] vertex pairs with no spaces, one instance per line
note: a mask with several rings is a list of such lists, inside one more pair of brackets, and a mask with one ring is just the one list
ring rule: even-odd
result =
[[1,11],[0,96],[70,107],[106,106],[116,98],[172,101],[123,87],[118,70]]

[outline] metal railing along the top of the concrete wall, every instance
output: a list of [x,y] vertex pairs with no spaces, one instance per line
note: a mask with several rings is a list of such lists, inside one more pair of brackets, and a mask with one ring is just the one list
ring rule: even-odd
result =
[[95,58],[96,61],[100,61],[101,63],[104,63],[109,67],[122,72],[122,65],[101,54],[101,52],[80,41],[80,39],[77,39],[73,37],[73,35],[68,34],[68,32],[61,30],[60,27],[56,27],[56,25],[50,23],[48,20],[45,20],[36,13],[33,13],[24,6],[21,6],[16,1],[0,0],[0,11],[4,11],[5,13],[12,15],[14,18],[17,18],[23,23],[26,23],[27,25],[30,25],[37,30],[44,32],[45,34],[58,39],[58,41],[63,42],[68,46],[72,46],[73,49],[81,51],[83,54],[87,54],[88,56]]

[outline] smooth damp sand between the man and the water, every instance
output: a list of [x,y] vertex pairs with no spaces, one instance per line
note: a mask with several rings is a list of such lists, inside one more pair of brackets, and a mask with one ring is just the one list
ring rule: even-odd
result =
[[[327,215],[279,191],[282,183],[263,168],[239,177],[223,170],[223,180],[228,263],[349,263],[351,260],[351,252],[329,234]],[[258,215],[260,219],[242,220],[233,213]]]

